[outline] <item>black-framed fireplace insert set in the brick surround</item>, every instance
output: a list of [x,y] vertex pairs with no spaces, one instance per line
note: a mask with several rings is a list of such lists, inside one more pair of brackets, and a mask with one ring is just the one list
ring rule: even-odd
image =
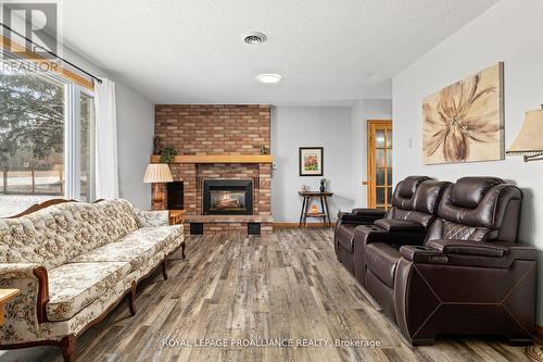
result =
[[252,179],[204,179],[204,215],[252,215]]

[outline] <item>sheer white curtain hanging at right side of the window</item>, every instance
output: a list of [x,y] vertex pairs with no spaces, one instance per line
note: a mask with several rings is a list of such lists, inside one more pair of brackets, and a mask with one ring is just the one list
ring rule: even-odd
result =
[[94,84],[97,199],[118,198],[117,112],[115,83],[102,78]]

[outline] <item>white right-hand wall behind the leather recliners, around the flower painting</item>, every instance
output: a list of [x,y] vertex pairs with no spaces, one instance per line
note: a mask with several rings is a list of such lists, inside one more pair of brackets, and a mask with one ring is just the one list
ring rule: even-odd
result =
[[[505,145],[522,124],[525,112],[543,103],[543,1],[502,0],[443,41],[393,79],[394,178],[427,174],[455,180],[494,175],[523,191],[519,239],[540,249],[538,323],[543,325],[543,163],[504,161],[425,166],[421,160],[421,100],[465,76],[505,62]],[[409,139],[413,147],[409,147]]]

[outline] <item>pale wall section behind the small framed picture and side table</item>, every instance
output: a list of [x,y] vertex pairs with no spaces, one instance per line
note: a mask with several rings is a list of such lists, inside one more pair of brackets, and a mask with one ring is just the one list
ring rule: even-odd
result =
[[[272,211],[276,222],[298,222],[302,185],[318,190],[320,176],[299,176],[299,147],[324,147],[324,176],[330,214],[352,208],[350,107],[275,107],[272,109],[272,154],[277,170],[272,176]],[[319,209],[320,205],[318,204]],[[308,220],[320,222],[320,220]]]

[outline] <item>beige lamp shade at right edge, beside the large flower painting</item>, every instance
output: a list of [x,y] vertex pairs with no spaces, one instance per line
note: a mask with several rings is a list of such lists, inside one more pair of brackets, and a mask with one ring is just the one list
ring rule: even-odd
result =
[[508,154],[538,155],[543,153],[543,107],[526,112],[525,123],[517,138],[507,150]]

